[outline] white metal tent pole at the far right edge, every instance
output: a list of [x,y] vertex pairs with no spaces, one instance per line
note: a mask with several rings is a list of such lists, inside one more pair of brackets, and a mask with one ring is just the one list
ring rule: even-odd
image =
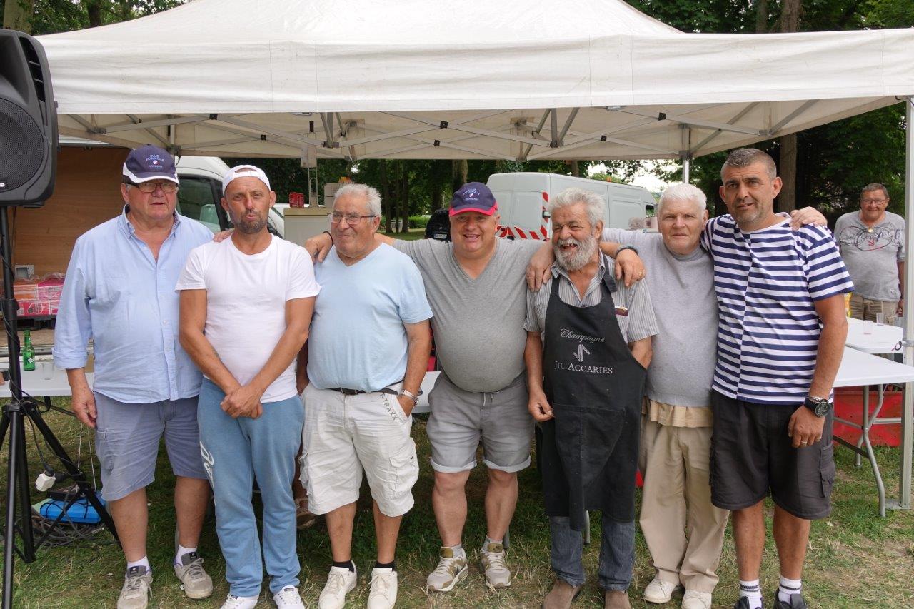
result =
[[[914,246],[914,96],[905,99],[905,249],[909,260],[905,264],[905,363],[914,365],[914,307],[910,305],[914,285],[914,263],[910,260]],[[911,450],[914,448],[914,383],[905,387],[905,402],[901,411],[901,476],[898,482],[898,508],[911,508]]]

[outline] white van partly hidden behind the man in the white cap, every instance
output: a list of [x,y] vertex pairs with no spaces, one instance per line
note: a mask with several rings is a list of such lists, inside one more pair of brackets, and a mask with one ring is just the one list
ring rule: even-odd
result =
[[[181,187],[177,191],[177,212],[187,218],[199,220],[209,230],[218,232],[231,227],[222,198],[222,177],[228,165],[218,156],[181,156],[175,165]],[[287,204],[277,204],[267,217],[267,229],[282,237],[285,222],[282,216]]]

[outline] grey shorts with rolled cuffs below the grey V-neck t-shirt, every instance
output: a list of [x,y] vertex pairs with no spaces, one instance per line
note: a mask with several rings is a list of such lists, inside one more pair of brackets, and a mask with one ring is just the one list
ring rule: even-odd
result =
[[429,394],[431,467],[445,474],[473,469],[482,438],[486,467],[503,472],[526,468],[534,423],[526,402],[523,374],[505,389],[488,393],[462,390],[442,372]]

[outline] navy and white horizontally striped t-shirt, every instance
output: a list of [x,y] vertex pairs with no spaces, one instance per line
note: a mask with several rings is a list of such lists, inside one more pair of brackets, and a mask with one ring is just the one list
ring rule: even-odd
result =
[[720,326],[714,389],[742,401],[802,402],[821,327],[814,302],[854,291],[832,233],[790,220],[742,232],[729,215],[707,222]]

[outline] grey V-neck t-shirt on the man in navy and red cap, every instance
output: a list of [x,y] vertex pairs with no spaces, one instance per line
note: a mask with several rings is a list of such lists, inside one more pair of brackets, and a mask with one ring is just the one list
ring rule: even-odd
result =
[[502,390],[524,371],[526,265],[542,244],[496,240],[492,260],[471,279],[452,243],[394,241],[422,272],[441,369],[462,390]]

